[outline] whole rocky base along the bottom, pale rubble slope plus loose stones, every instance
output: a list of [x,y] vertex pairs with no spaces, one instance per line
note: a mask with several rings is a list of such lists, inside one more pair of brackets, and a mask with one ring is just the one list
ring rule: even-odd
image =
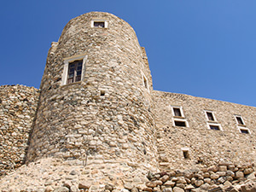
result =
[[[125,163],[123,163],[125,164]],[[21,166],[0,181],[3,192],[184,192],[256,191],[256,167],[220,164],[201,169],[148,172],[82,161],[41,159]]]

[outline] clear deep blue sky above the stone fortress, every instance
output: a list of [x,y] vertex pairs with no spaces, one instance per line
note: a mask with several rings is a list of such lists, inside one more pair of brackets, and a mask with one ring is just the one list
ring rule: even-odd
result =
[[256,106],[255,0],[2,1],[0,84],[38,88],[50,43],[90,11],[130,23],[154,90]]

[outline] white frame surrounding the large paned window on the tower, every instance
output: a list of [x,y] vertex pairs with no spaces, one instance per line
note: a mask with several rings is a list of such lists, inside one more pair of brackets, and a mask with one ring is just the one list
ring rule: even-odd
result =
[[67,73],[68,73],[68,66],[69,63],[73,61],[78,61],[78,60],[83,60],[83,67],[82,67],[82,74],[81,74],[81,80],[78,82],[74,82],[71,84],[75,83],[80,83],[84,81],[84,74],[85,74],[85,63],[87,61],[87,55],[73,55],[71,57],[64,58],[64,68],[63,68],[63,73],[62,73],[62,79],[61,79],[61,85],[67,84]]

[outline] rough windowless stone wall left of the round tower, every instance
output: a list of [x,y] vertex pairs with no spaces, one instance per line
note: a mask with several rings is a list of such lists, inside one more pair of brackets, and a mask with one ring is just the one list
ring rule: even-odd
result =
[[38,104],[38,90],[0,86],[0,176],[22,165]]

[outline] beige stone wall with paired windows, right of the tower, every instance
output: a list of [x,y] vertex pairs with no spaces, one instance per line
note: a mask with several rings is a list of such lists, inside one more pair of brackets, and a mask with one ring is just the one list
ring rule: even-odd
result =
[[[154,104],[161,168],[255,162],[256,108],[157,90]],[[183,108],[189,127],[173,125],[171,106]],[[207,119],[205,110],[212,111],[215,122]],[[235,115],[241,115],[245,125],[240,127],[251,134],[239,131]],[[207,124],[220,125],[223,131],[211,130]],[[187,159],[183,150],[189,153]]]

